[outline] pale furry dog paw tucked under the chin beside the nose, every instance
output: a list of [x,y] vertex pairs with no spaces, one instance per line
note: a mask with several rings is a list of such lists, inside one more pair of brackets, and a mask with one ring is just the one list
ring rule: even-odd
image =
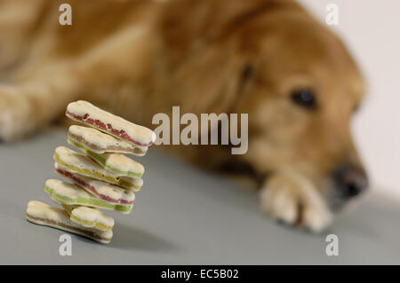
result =
[[269,216],[312,232],[322,232],[332,223],[332,213],[321,193],[297,172],[271,176],[260,192],[260,205]]

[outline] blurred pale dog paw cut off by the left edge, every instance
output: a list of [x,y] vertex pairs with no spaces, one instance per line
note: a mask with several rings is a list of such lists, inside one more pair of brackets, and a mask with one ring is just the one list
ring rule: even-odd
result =
[[0,141],[11,142],[29,129],[29,105],[25,97],[11,87],[0,87]]

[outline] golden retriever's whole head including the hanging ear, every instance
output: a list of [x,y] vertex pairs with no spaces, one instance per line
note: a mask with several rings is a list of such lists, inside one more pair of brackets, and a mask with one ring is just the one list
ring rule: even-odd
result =
[[192,96],[188,109],[249,114],[242,158],[259,174],[294,169],[332,208],[363,193],[350,134],[363,79],[338,37],[292,1],[214,3],[188,7],[193,21],[181,27],[164,22],[169,40],[179,41],[169,58]]

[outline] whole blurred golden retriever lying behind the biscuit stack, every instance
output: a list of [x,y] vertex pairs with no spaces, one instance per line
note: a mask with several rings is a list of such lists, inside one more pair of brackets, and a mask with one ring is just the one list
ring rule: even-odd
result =
[[[72,25],[59,23],[60,4]],[[84,99],[151,129],[172,113],[249,114],[248,152],[167,146],[250,174],[269,216],[314,232],[365,191],[349,122],[363,79],[340,39],[292,0],[0,0],[0,138]]]

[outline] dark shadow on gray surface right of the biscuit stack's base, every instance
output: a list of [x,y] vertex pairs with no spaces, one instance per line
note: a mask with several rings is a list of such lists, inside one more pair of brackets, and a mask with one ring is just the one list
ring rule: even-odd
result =
[[116,224],[113,232],[113,240],[109,244],[110,248],[146,251],[172,251],[178,249],[172,242],[164,240],[162,237],[147,232],[140,227]]

